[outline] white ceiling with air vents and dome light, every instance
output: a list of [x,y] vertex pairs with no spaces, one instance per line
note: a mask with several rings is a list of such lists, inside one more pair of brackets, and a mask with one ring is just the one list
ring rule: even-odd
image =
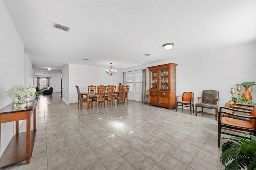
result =
[[256,42],[254,0],[3,1],[36,72],[68,63],[128,68]]

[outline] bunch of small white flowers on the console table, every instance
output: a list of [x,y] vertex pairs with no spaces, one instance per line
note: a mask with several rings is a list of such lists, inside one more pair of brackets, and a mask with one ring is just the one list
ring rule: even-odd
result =
[[9,98],[18,98],[22,100],[23,98],[29,98],[36,94],[36,89],[32,86],[26,85],[16,85],[12,86],[9,90],[6,91],[6,96]]

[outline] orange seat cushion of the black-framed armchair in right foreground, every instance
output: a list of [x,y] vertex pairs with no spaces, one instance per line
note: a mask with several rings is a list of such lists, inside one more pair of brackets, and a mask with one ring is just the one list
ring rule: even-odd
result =
[[229,117],[221,117],[220,122],[223,125],[230,125],[234,127],[241,127],[246,129],[252,129],[252,124],[248,121],[240,120],[240,119],[233,119]]

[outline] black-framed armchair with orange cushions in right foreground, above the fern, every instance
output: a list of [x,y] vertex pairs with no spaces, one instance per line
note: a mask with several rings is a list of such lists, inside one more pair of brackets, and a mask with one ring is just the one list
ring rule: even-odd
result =
[[[225,109],[225,111],[222,111]],[[232,112],[228,112],[228,110]],[[247,113],[247,115],[245,115]],[[218,113],[218,147],[220,147],[221,134],[232,135],[239,137],[240,135],[228,133],[226,130],[235,131],[238,133],[249,132],[251,135],[256,136],[256,106],[252,111],[233,109],[229,107],[220,107]],[[224,131],[222,131],[224,129]],[[242,136],[244,137],[244,136]],[[250,139],[248,137],[244,137]]]

